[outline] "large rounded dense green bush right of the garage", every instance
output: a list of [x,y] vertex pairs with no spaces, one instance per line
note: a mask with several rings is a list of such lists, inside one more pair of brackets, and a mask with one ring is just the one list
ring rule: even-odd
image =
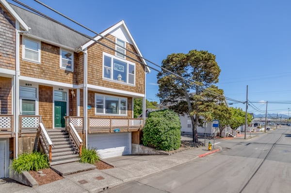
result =
[[143,143],[165,151],[178,149],[181,144],[181,124],[177,113],[171,110],[154,111],[148,115],[143,130]]

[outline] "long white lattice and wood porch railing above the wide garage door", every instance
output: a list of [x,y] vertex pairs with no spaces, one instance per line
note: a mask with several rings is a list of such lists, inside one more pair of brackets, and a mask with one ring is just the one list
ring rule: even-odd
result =
[[144,119],[89,118],[88,133],[129,132],[144,127]]

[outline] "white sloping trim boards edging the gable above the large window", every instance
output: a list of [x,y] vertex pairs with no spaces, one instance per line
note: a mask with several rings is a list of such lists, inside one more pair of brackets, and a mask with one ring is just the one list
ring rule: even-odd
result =
[[[126,30],[126,32],[128,33],[128,35],[129,35],[129,39],[130,39],[130,41],[132,42],[132,44],[133,44],[133,46],[134,46],[134,48],[135,48],[137,54],[140,55],[141,57],[143,57],[142,53],[140,52],[139,48],[137,47],[137,45],[136,45],[136,43],[135,43],[135,41],[134,41],[134,39],[133,39],[133,37],[131,36],[131,34],[130,34],[130,32],[129,32],[129,29],[127,28],[127,26],[126,26],[124,20],[121,20],[120,22],[116,23],[115,25],[113,25],[113,26],[110,27],[109,29],[103,31],[100,35],[105,36],[106,34],[113,32],[113,30],[115,30],[115,29],[117,29],[117,28],[119,28],[119,27],[121,27],[121,26],[123,26],[124,29]],[[96,41],[98,41],[99,39],[101,39],[101,36],[96,36],[96,37],[94,38],[94,40],[96,40]],[[93,43],[95,43],[95,41],[91,40],[91,41],[87,42],[86,44],[81,45],[81,49],[85,49],[85,48],[87,48],[88,46],[92,45]],[[141,60],[143,61],[143,63],[146,64],[146,60],[145,60],[145,59],[142,59],[142,58],[141,58]],[[146,64],[146,65],[147,65],[147,64]],[[147,72],[150,72],[150,69],[149,69],[147,66],[146,66],[146,70],[147,70]]]

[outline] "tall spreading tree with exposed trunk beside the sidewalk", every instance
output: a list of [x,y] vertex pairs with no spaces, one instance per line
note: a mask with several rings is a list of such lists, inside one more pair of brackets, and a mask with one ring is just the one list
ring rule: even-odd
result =
[[161,103],[175,104],[179,114],[190,116],[195,143],[198,143],[199,113],[206,112],[205,109],[199,108],[200,104],[206,101],[203,93],[205,88],[218,82],[219,74],[220,68],[215,61],[215,55],[208,51],[191,50],[187,54],[168,55],[162,61],[162,72],[157,75],[159,84],[157,95]]

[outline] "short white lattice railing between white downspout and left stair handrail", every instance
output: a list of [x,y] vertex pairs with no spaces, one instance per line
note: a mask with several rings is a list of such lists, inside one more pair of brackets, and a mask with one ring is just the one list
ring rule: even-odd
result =
[[36,132],[39,123],[41,122],[41,116],[38,115],[21,115],[19,116],[20,119],[20,127],[19,127],[19,132],[21,134],[21,131],[26,131],[26,132]]

